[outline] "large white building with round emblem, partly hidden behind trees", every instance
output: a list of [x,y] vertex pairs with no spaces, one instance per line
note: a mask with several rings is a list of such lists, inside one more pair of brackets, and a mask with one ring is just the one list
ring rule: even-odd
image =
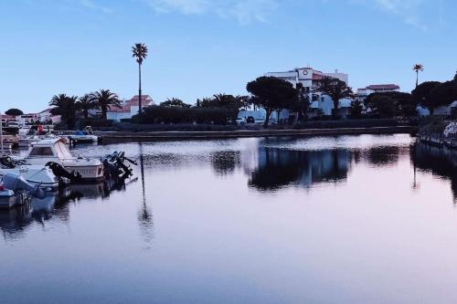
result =
[[[278,79],[283,79],[292,83],[294,87],[298,83],[303,85],[303,88],[308,92],[310,100],[312,100],[310,110],[308,112],[309,117],[314,116],[330,116],[332,115],[332,110],[334,109],[333,100],[323,95],[319,92],[313,92],[316,88],[316,82],[324,79],[324,77],[330,77],[334,79],[340,79],[345,82],[346,85],[349,84],[349,76],[345,73],[340,73],[338,70],[335,70],[335,73],[324,73],[320,70],[314,68],[294,68],[285,72],[269,72],[264,76],[275,77]],[[339,102],[339,115],[345,118],[349,113],[349,108],[351,106],[351,100],[345,99],[340,100]],[[286,110],[282,110],[281,116],[289,116],[289,111],[285,113]],[[280,118],[281,120],[281,118]]]

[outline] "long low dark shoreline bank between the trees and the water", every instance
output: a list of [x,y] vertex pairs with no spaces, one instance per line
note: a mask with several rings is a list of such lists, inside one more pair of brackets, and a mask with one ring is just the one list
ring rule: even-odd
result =
[[349,134],[398,134],[415,135],[416,127],[393,126],[372,128],[303,129],[303,130],[261,130],[261,131],[95,131],[103,142],[132,142],[154,140],[223,139],[241,137],[271,136],[322,136]]

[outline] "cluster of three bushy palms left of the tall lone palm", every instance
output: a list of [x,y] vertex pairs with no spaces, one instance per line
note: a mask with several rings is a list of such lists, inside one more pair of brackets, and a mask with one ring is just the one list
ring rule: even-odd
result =
[[84,119],[89,118],[90,110],[100,110],[102,118],[106,119],[106,112],[112,107],[121,107],[121,100],[117,94],[109,89],[84,94],[83,96],[69,96],[67,94],[54,95],[49,101],[49,106],[53,107],[53,115],[61,115],[69,127],[74,125],[76,118],[80,115]]

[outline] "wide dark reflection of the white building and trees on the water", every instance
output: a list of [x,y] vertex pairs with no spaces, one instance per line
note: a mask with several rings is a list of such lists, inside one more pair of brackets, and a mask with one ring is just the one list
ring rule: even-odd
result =
[[394,166],[400,155],[408,152],[408,145],[396,144],[334,149],[318,149],[315,145],[308,150],[303,139],[267,138],[241,151],[212,152],[210,162],[216,175],[233,174],[239,168],[249,176],[250,187],[268,192],[288,186],[344,183],[353,163]]

